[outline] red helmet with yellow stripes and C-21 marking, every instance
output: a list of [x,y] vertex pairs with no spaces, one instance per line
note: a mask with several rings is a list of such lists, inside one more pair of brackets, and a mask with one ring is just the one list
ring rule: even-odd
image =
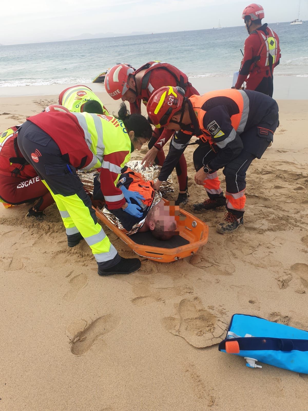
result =
[[181,87],[167,85],[154,91],[147,102],[147,113],[155,127],[169,124],[172,116],[182,109],[185,92]]

